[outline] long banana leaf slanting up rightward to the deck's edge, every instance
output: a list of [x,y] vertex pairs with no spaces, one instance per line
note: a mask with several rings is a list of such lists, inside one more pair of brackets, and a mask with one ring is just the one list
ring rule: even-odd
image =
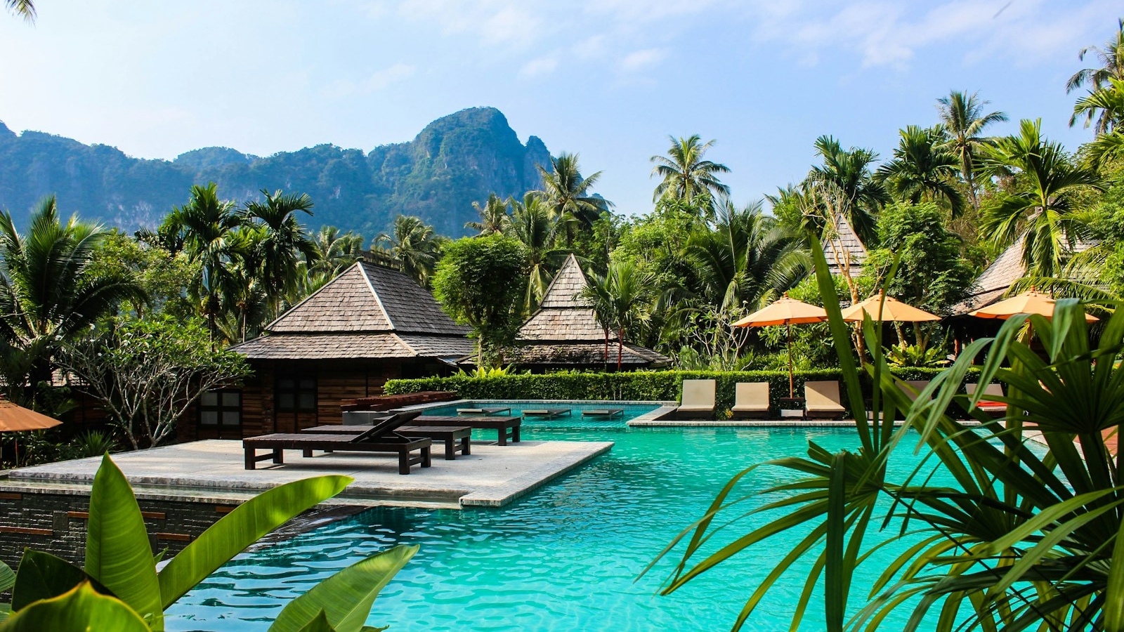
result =
[[171,606],[246,547],[306,509],[339,494],[352,480],[346,476],[306,478],[246,500],[202,532],[160,571],[163,606]]

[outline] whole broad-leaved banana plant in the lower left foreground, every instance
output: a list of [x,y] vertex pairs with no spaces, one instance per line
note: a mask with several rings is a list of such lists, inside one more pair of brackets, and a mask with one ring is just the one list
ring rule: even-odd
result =
[[[218,567],[293,516],[342,491],[346,476],[281,485],[223,516],[157,571],[140,507],[125,476],[102,459],[90,491],[85,563],[27,550],[19,570],[0,563],[0,631],[164,630],[164,611]],[[395,547],[361,560],[290,602],[271,632],[364,632],[371,604],[417,552]],[[9,617],[10,615],[10,617]]]

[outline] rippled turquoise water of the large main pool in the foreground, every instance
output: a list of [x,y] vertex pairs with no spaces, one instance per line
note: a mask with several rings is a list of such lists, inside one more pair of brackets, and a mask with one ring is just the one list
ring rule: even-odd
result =
[[[391,632],[728,630],[785,547],[738,556],[670,597],[654,595],[670,560],[643,579],[637,575],[746,466],[803,454],[808,439],[833,451],[858,445],[853,431],[833,428],[527,427],[525,436],[616,445],[501,509],[372,509],[244,554],[173,606],[167,629],[264,631],[288,599],[320,579],[406,543],[422,550],[375,601],[369,622],[390,624]],[[909,464],[904,459],[898,467]],[[760,489],[781,475],[759,469],[744,487]],[[765,520],[735,527],[727,539]],[[885,568],[879,559],[855,578],[854,599],[865,597],[863,588]],[[801,587],[803,576],[794,575],[745,630],[788,630]],[[823,629],[819,604],[814,597],[801,630]],[[882,629],[900,629],[907,614]]]

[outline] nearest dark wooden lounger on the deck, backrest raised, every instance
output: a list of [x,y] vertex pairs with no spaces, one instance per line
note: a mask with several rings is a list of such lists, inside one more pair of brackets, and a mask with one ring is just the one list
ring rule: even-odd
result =
[[[398,454],[398,473],[410,473],[410,466],[430,466],[429,452],[433,441],[424,437],[405,436],[396,432],[409,415],[395,415],[360,434],[266,434],[242,440],[245,451],[245,467],[255,469],[259,461],[272,459],[277,464],[284,462],[285,450],[300,450],[311,457],[314,450],[326,452],[374,452]],[[259,455],[259,450],[269,450]],[[414,453],[417,452],[417,455]]]

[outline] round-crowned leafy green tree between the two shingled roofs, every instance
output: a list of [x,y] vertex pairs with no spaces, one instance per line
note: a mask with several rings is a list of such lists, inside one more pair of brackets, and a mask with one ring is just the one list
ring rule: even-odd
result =
[[434,294],[456,322],[472,327],[481,363],[522,324],[518,299],[526,265],[523,244],[501,234],[456,240],[437,264]]

